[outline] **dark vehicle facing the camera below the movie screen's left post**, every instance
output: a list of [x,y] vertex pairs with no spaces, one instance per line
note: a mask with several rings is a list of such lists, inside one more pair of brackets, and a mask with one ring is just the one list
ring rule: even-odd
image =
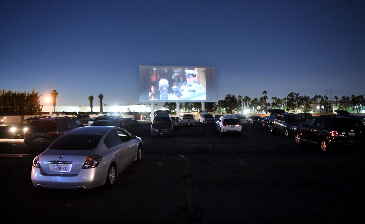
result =
[[155,115],[151,125],[151,136],[172,135],[173,130],[172,119],[169,114]]

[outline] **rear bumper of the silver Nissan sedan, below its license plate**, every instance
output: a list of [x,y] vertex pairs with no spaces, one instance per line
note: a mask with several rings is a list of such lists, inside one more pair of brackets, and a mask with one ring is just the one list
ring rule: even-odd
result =
[[[97,167],[96,167],[97,168]],[[41,171],[41,168],[33,167],[31,171],[31,180],[33,186],[53,189],[78,189],[85,187],[91,189],[104,185],[107,173],[97,174],[96,168],[82,169],[76,176],[51,176]]]

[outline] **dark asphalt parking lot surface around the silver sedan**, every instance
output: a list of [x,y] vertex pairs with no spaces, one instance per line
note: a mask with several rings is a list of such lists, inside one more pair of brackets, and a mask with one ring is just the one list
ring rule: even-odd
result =
[[[214,125],[150,137],[149,123],[127,128],[144,156],[111,189],[37,189],[34,154],[22,139],[0,139],[5,216],[14,221],[147,223],[354,222],[362,217],[364,153],[322,153],[258,124],[220,137]],[[43,149],[39,149],[42,152]],[[19,215],[21,214],[21,215]]]

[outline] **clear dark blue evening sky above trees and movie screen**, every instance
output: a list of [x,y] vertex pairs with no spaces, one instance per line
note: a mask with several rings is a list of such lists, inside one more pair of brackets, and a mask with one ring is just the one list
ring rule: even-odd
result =
[[0,87],[59,106],[138,103],[139,65],[214,66],[217,101],[365,94],[365,1],[1,1],[0,30]]

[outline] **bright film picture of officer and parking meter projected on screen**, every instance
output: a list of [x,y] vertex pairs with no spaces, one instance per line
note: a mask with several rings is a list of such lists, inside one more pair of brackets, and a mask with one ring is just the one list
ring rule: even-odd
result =
[[149,67],[148,73],[148,100],[206,100],[205,68]]

